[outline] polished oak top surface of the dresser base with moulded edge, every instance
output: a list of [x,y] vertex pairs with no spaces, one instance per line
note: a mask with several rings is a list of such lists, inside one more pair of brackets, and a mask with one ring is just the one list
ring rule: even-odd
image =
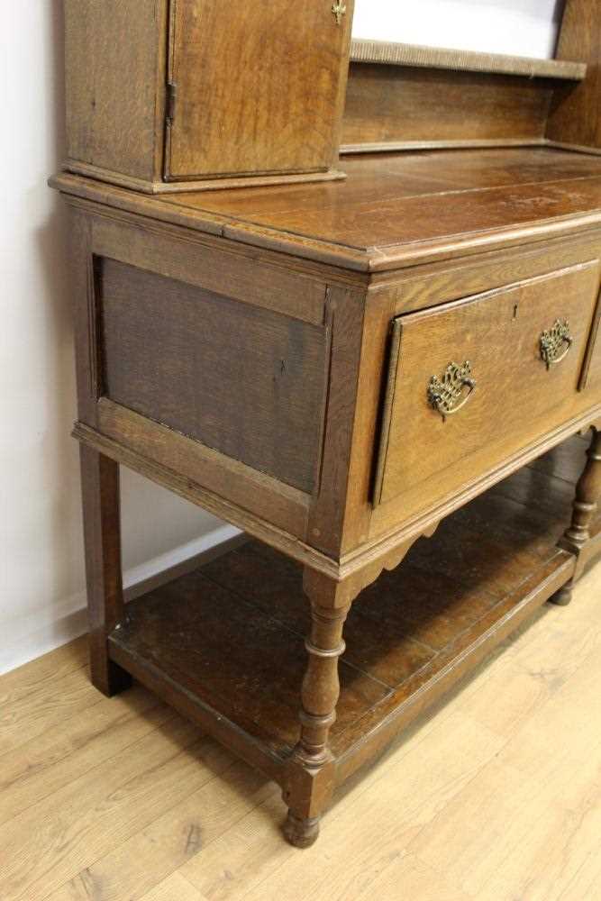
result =
[[62,191],[359,270],[402,268],[601,224],[601,156],[551,147],[345,157],[345,181],[143,196],[64,174]]

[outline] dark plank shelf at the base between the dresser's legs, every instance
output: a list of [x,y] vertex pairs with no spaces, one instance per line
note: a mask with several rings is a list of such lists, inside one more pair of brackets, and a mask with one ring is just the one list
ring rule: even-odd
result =
[[[569,580],[575,560],[557,542],[586,448],[576,437],[461,508],[353,605],[331,733],[338,784]],[[132,601],[109,653],[281,782],[308,626],[301,568],[248,542]]]

